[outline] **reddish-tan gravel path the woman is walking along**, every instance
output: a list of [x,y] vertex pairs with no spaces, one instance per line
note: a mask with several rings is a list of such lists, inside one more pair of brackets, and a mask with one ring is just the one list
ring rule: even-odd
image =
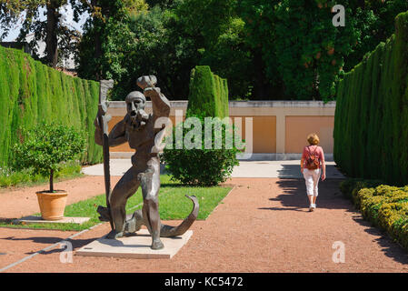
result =
[[[94,189],[102,183],[103,189],[102,181],[85,177],[77,184]],[[74,256],[72,264],[63,264],[62,249],[55,247],[5,272],[408,271],[407,252],[362,220],[340,193],[339,179],[327,179],[319,185],[313,213],[307,209],[302,179],[232,178],[226,183],[234,185],[234,190],[205,221],[194,223],[194,235],[172,259]],[[84,189],[75,191],[85,193]],[[7,211],[4,197],[0,195],[2,213]],[[74,251],[103,236],[109,228],[104,223],[75,236],[71,240]],[[5,253],[0,255],[0,269],[73,234],[0,228],[0,253]],[[344,246],[344,263],[333,263],[335,242]]]

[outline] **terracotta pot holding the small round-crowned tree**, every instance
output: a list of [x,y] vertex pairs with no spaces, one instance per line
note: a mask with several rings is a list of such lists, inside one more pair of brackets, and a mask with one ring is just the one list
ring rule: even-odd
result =
[[41,216],[45,220],[59,220],[64,217],[66,196],[64,190],[56,190],[55,193],[49,191],[36,192]]

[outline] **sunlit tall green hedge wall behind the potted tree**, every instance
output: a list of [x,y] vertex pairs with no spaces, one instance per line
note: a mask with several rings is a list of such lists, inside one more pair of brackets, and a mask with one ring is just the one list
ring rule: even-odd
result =
[[61,122],[87,135],[83,163],[102,159],[94,141],[99,83],[65,75],[20,50],[0,46],[0,166],[9,166],[21,126]]

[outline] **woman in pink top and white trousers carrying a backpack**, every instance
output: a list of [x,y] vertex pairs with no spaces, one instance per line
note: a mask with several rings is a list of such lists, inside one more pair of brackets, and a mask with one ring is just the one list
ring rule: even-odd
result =
[[301,172],[304,174],[306,182],[307,196],[309,197],[309,211],[316,208],[316,198],[318,196],[319,178],[322,181],[326,178],[326,165],[324,164],[324,154],[319,136],[316,134],[307,135],[309,146],[304,146],[304,153],[301,159]]

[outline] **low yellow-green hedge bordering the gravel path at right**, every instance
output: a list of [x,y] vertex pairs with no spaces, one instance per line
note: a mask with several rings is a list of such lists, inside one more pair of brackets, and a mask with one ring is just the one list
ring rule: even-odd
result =
[[345,196],[352,198],[365,219],[408,250],[408,186],[348,179],[342,182],[340,189]]

